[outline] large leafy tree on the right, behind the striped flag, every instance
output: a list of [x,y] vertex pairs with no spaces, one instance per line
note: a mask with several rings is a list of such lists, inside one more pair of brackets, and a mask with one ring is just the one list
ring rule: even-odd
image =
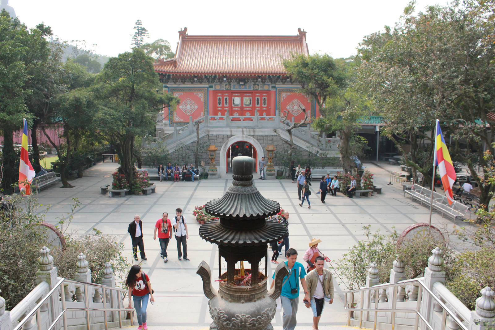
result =
[[484,182],[484,151],[495,151],[495,127],[488,119],[495,105],[495,44],[487,36],[495,34],[495,26],[484,3],[430,6],[413,16],[411,2],[393,30],[365,38],[359,78],[361,90],[383,111],[387,135],[398,137],[399,148],[409,144],[405,162],[426,183],[431,183],[432,131],[440,119],[452,138],[450,153],[467,165],[488,207],[495,185]]

